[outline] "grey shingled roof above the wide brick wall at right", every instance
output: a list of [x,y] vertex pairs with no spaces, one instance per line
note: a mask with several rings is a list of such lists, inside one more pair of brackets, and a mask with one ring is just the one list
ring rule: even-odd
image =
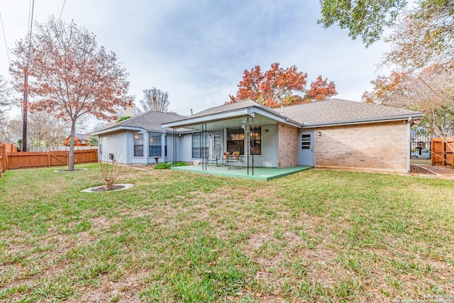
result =
[[407,120],[410,117],[411,119],[423,117],[423,113],[418,111],[344,99],[328,99],[284,106],[282,114],[299,121],[304,127],[399,121]]

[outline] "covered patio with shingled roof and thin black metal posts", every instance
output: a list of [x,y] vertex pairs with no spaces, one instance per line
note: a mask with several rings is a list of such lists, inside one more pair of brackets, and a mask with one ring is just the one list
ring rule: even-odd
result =
[[282,128],[296,130],[301,125],[254,101],[217,106],[162,126],[173,129],[173,162],[200,160],[200,170],[209,170],[209,162],[236,152],[238,165],[248,168],[239,175],[244,171],[255,175],[255,168],[297,165],[296,143],[294,148],[282,148],[296,141],[297,133],[286,136]]

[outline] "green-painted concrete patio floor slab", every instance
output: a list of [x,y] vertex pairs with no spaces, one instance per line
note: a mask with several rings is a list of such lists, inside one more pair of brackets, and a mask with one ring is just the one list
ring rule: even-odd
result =
[[294,167],[254,167],[254,174],[251,173],[252,168],[249,167],[249,175],[248,175],[248,167],[239,167],[239,169],[231,169],[229,170],[225,165],[208,165],[203,167],[203,165],[189,165],[189,166],[178,166],[172,167],[172,170],[182,170],[186,172],[195,172],[199,174],[206,174],[206,175],[216,175],[221,177],[237,177],[243,179],[251,179],[251,180],[262,180],[262,181],[269,181],[273,179],[277,179],[280,177],[284,177],[287,175],[292,175],[296,172],[301,172],[303,170],[309,170],[312,166],[294,166]]

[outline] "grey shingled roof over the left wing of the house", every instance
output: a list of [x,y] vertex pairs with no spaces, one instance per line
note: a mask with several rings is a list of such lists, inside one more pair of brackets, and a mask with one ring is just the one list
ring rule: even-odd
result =
[[165,131],[165,128],[162,128],[161,126],[163,123],[168,123],[183,118],[185,117],[172,113],[164,113],[162,111],[147,111],[143,114],[133,116],[121,122],[110,124],[109,126],[106,126],[99,131],[92,132],[92,135],[97,136],[104,133],[111,133],[120,130],[144,130],[162,132]]

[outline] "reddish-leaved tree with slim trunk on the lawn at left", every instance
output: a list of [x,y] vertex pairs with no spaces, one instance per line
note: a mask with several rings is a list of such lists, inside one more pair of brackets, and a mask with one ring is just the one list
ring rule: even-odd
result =
[[33,35],[19,40],[13,53],[14,84],[22,92],[24,74],[28,77],[26,89],[36,100],[31,110],[47,111],[70,122],[68,170],[74,170],[78,119],[92,115],[110,121],[117,118],[119,107],[132,105],[126,70],[115,53],[98,46],[93,33],[54,17],[36,23]]

